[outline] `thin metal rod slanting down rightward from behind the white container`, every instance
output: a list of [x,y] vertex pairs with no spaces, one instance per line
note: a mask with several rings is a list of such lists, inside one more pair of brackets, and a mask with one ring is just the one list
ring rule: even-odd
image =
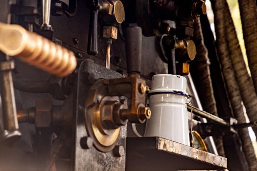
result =
[[[197,107],[192,107],[193,108],[193,113],[196,114],[197,116],[201,116],[203,118],[206,118],[206,119],[209,119],[213,122],[216,122],[218,124],[221,124],[221,125],[228,125],[228,123],[224,120],[224,119],[221,119],[213,114],[210,114],[206,111],[203,111],[203,110],[200,110],[199,108]],[[187,110],[190,111],[191,110],[191,106],[190,105],[187,105]]]

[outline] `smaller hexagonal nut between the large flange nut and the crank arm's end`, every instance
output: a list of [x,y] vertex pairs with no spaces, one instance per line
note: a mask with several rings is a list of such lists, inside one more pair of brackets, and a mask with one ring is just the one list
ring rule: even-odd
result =
[[117,104],[114,109],[114,121],[117,126],[124,126],[127,124],[128,119],[126,118],[127,105]]

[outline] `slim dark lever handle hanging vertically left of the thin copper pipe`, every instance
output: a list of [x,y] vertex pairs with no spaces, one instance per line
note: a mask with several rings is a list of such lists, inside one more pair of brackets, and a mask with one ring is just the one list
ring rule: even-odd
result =
[[98,9],[91,10],[90,21],[89,21],[89,35],[88,35],[88,54],[89,55],[96,55],[98,53],[97,18],[98,18]]

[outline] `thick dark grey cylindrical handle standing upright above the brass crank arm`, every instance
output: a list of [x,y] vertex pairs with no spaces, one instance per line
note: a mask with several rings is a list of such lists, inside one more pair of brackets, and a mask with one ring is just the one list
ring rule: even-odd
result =
[[125,29],[126,62],[128,73],[141,71],[142,29],[127,27]]

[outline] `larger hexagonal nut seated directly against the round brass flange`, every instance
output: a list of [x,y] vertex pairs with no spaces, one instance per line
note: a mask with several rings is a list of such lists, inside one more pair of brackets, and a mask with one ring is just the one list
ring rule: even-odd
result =
[[107,101],[101,109],[103,127],[106,129],[115,129],[117,126],[114,121],[114,108],[119,102]]

